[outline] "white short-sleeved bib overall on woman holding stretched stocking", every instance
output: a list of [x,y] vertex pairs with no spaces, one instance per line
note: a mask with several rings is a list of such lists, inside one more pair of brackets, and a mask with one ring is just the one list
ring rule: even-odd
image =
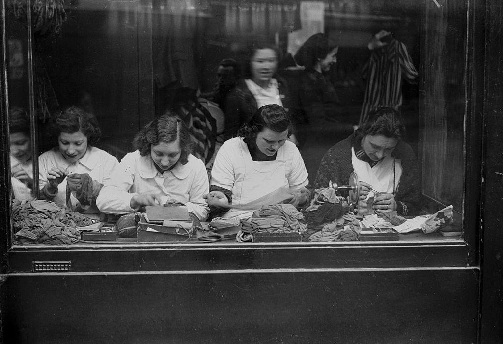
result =
[[[276,153],[275,161],[253,161],[248,146],[241,138],[224,142],[213,164],[211,185],[232,191],[232,204],[245,204],[286,187],[305,187],[307,170],[297,146],[290,141]],[[247,218],[254,210],[231,208],[222,217]]]

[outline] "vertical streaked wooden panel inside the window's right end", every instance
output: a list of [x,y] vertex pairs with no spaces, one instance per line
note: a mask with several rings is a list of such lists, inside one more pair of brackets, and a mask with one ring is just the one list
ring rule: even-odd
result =
[[[440,4],[440,6],[437,6]],[[467,2],[426,2],[421,50],[423,193],[462,212]]]

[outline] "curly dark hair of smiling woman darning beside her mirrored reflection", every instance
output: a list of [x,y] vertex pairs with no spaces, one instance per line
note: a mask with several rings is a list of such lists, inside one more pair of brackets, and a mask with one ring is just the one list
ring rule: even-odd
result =
[[52,132],[55,137],[61,133],[80,131],[88,139],[88,145],[95,146],[101,138],[101,129],[94,114],[78,106],[70,106],[56,118]]

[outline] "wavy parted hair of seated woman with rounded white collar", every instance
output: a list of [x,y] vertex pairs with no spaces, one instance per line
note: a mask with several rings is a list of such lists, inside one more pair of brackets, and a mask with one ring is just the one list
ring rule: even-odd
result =
[[178,160],[182,165],[187,164],[192,150],[192,140],[189,130],[178,116],[166,112],[161,117],[149,122],[134,137],[133,147],[140,151],[141,156],[150,154],[150,147],[160,142],[171,143],[180,139],[182,153]]

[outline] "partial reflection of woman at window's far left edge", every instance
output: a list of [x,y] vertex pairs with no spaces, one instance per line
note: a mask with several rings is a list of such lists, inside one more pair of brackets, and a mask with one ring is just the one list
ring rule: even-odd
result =
[[30,121],[26,111],[13,107],[9,111],[9,143],[11,150],[11,183],[17,200],[33,199],[33,162]]

